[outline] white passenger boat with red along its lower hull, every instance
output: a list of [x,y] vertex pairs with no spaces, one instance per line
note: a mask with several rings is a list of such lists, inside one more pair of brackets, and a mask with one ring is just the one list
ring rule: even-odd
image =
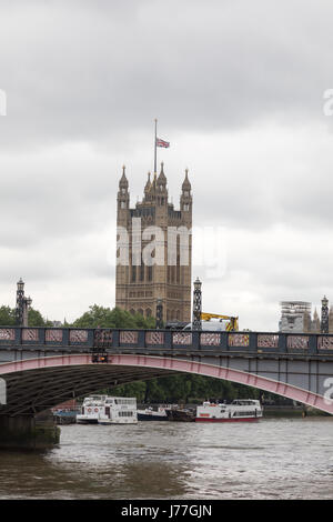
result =
[[262,406],[253,399],[235,399],[231,404],[204,402],[196,408],[195,422],[258,421]]

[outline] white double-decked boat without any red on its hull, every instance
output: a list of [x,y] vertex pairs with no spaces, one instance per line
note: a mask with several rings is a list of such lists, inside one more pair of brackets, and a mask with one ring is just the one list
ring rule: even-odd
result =
[[137,399],[128,396],[92,395],[83,401],[80,424],[137,424]]

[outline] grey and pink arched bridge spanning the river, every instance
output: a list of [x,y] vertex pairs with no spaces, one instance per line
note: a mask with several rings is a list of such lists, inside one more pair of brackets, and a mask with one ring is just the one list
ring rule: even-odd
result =
[[176,372],[246,384],[333,413],[333,335],[0,328],[7,392],[0,432],[1,420],[8,425],[103,388]]

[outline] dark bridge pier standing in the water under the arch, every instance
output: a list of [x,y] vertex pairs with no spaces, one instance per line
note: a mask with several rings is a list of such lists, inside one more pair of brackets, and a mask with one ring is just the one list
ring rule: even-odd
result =
[[60,428],[33,415],[0,415],[0,450],[46,450],[60,442]]

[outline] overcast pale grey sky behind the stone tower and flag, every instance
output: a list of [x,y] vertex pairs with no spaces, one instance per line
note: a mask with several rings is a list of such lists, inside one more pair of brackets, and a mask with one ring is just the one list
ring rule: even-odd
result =
[[329,0],[2,0],[1,303],[22,277],[49,319],[114,305],[118,182],[125,164],[142,197],[154,118],[175,205],[189,169],[203,309],[276,330],[281,300],[333,303],[332,18]]

